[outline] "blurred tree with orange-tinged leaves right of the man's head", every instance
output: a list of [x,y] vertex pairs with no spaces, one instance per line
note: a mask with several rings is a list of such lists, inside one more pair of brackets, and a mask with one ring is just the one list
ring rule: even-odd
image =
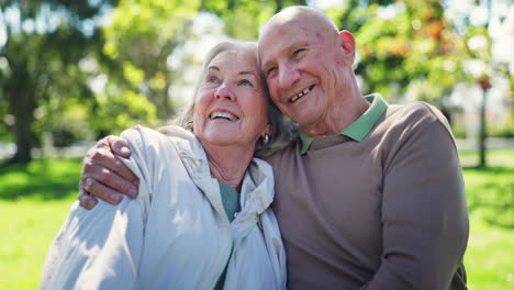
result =
[[428,101],[451,122],[448,99],[454,86],[466,79],[465,43],[444,16],[440,1],[369,2],[375,3],[343,13],[343,22],[356,29],[356,72],[364,78],[362,90],[379,91],[392,101],[403,96]]

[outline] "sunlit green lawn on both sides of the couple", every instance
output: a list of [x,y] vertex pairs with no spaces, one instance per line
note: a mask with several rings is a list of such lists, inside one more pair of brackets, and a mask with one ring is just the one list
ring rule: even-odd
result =
[[[514,150],[495,154],[503,164],[514,163]],[[0,168],[0,289],[38,288],[48,246],[76,199],[79,172],[79,159]],[[469,288],[514,289],[514,165],[467,168],[465,180]]]

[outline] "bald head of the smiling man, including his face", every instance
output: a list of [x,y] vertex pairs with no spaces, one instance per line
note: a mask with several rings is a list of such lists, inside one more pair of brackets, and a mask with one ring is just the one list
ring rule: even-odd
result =
[[271,100],[304,132],[314,135],[333,134],[339,127],[332,124],[333,120],[338,120],[348,96],[358,92],[354,59],[351,33],[339,32],[316,9],[287,8],[272,16],[260,33],[259,66]]

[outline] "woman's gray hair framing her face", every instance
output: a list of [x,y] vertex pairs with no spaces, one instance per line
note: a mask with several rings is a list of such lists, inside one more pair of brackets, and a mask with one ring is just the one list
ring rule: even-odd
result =
[[[257,59],[256,42],[239,42],[231,40],[219,43],[217,45],[212,47],[206,55],[205,62],[202,66],[202,72],[194,86],[193,98],[191,102],[186,107],[186,109],[181,111],[172,121],[174,124],[192,131],[194,101],[197,100],[198,90],[202,83],[203,76],[205,75],[205,71],[212,59],[214,59],[216,55],[227,51],[253,51],[255,52]],[[257,64],[256,67],[258,68]],[[293,140],[295,140],[298,137],[298,125],[291,120],[289,120],[289,118],[283,115],[277,109],[277,107],[273,105],[268,93],[268,86],[266,83],[266,79],[260,69],[258,69],[258,71],[266,94],[266,99],[268,100],[268,122],[270,124],[271,135],[269,136],[269,142],[267,144],[265,144],[261,138],[257,141],[254,155],[256,157],[266,157],[276,153],[277,150],[284,148]]]

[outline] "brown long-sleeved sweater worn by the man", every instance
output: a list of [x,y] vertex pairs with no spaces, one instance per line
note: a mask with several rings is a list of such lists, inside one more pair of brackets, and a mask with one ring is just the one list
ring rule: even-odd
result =
[[466,196],[440,112],[389,105],[361,142],[300,148],[267,159],[290,289],[466,289]]

